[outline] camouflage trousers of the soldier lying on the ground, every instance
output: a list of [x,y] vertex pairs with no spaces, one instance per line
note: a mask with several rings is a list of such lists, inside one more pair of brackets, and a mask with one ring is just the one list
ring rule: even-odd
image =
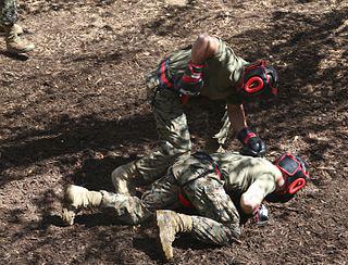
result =
[[[184,172],[189,174],[188,171]],[[189,234],[206,243],[225,245],[239,237],[240,228],[238,211],[223,185],[224,181],[211,173],[182,187],[170,169],[151,185],[141,199],[101,191],[101,207],[111,210],[117,219],[135,225],[151,217],[156,210],[183,207],[178,201],[182,192],[191,202],[195,212]]]

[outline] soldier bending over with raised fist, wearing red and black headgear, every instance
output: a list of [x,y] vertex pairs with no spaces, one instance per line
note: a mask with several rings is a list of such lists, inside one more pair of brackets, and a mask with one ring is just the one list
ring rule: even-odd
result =
[[222,127],[213,138],[207,139],[206,151],[212,153],[222,148],[232,127],[245,147],[245,154],[265,154],[265,143],[247,126],[244,112],[246,102],[270,99],[277,93],[276,71],[264,61],[249,63],[236,55],[225,41],[201,34],[191,48],[162,60],[148,76],[147,87],[161,144],[113,172],[119,193],[128,194],[125,185],[128,179],[152,182],[177,160],[189,156],[191,141],[183,106],[188,97],[202,96],[226,103]]

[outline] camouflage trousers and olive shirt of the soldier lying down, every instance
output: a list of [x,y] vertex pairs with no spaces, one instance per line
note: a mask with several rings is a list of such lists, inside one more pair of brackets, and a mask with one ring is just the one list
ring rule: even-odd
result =
[[192,216],[191,234],[207,243],[228,244],[240,234],[241,194],[256,182],[262,187],[263,198],[273,192],[278,171],[260,157],[227,152],[211,156],[219,163],[223,177],[217,176],[211,163],[189,156],[175,163],[141,199],[101,191],[101,206],[112,209],[127,224],[139,224],[158,209],[178,209],[182,193],[198,213]]

